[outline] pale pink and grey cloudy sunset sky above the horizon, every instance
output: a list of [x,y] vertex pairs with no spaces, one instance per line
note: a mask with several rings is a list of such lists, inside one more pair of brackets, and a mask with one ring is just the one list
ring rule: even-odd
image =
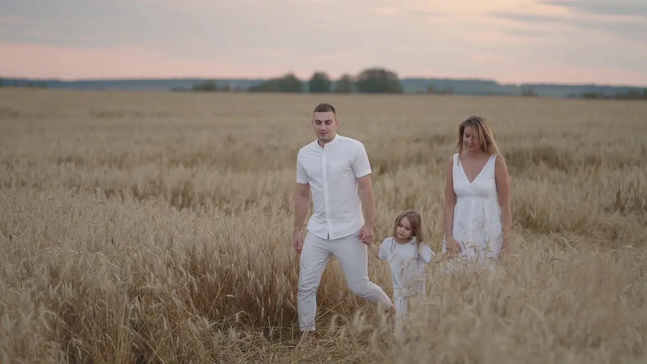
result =
[[0,77],[647,86],[646,0],[0,0]]

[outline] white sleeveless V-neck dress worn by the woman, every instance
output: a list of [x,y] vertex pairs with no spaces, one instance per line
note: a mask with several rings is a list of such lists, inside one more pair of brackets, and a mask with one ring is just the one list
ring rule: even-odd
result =
[[[499,207],[494,163],[496,155],[490,155],[487,163],[470,183],[454,154],[452,179],[456,193],[452,236],[461,244],[461,251],[454,260],[445,262],[443,271],[454,269],[488,269],[496,267],[496,260],[503,244],[503,227]],[[447,245],[443,238],[443,253]]]

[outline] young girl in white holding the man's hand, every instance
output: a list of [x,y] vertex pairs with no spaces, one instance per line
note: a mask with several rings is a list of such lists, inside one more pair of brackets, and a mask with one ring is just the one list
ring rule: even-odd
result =
[[[378,259],[389,264],[393,281],[393,303],[397,319],[406,317],[408,298],[424,293],[424,263],[429,263],[434,255],[432,249],[424,244],[421,217],[415,210],[404,210],[393,224],[393,235],[384,239],[380,247],[373,242],[365,242]],[[362,236],[364,241],[366,236]]]

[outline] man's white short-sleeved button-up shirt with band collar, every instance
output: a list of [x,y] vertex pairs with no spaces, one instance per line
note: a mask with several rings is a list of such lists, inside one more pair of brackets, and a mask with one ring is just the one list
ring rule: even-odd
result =
[[356,233],[364,225],[357,179],[371,173],[364,144],[337,134],[322,146],[317,141],[299,150],[297,183],[309,183],[313,214],[307,229],[323,239]]

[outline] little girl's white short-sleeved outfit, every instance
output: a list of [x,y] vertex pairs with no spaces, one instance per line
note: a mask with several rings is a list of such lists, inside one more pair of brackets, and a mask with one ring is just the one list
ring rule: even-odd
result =
[[424,293],[426,271],[424,263],[434,255],[428,245],[421,243],[420,251],[411,240],[408,244],[398,244],[394,238],[386,238],[378,250],[378,258],[389,264],[393,282],[393,304],[397,318],[406,317],[408,299],[412,295]]

